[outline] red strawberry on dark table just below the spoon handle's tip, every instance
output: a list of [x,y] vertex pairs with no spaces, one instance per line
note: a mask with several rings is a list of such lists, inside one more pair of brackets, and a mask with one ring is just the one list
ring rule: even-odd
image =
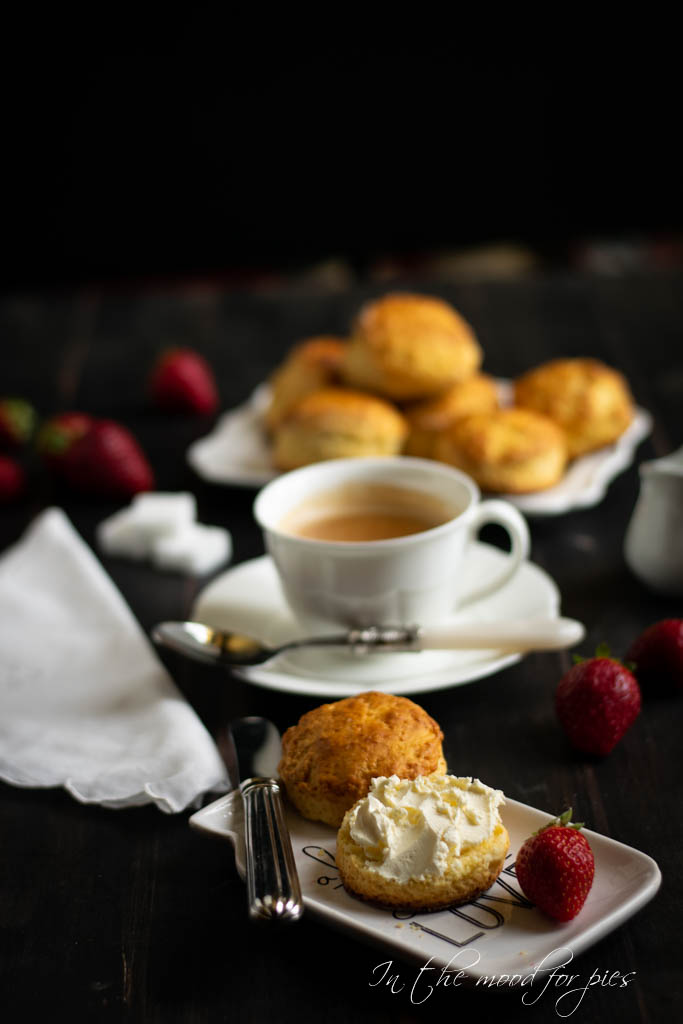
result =
[[586,754],[609,754],[640,712],[635,677],[615,658],[579,662],[559,682],[555,709],[570,742]]

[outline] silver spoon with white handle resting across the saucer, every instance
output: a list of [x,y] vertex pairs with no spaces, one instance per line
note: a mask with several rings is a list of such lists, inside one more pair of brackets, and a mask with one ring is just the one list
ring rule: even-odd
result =
[[291,640],[268,647],[253,637],[216,630],[203,623],[159,623],[152,639],[161,647],[205,662],[230,666],[265,665],[278,654],[302,647],[343,647],[356,654],[421,650],[561,650],[586,634],[574,618],[520,618],[509,623],[456,623],[418,626],[369,626],[331,636]]

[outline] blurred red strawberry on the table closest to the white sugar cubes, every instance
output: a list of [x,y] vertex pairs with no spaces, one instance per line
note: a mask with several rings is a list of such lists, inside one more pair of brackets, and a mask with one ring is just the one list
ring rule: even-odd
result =
[[155,485],[139,444],[114,420],[95,420],[65,453],[61,471],[73,486],[90,494],[127,498]]

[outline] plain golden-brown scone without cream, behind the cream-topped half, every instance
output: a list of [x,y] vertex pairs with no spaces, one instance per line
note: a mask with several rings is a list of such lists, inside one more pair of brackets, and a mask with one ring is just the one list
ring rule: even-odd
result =
[[283,736],[280,775],[304,818],[339,827],[376,776],[444,772],[442,739],[418,705],[371,690],[303,715]]

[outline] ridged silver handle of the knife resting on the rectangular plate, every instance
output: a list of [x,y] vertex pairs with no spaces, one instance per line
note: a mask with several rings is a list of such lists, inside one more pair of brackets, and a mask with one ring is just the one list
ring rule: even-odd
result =
[[240,788],[249,915],[261,921],[297,921],[303,913],[303,900],[280,785],[273,778],[256,777],[245,779]]

